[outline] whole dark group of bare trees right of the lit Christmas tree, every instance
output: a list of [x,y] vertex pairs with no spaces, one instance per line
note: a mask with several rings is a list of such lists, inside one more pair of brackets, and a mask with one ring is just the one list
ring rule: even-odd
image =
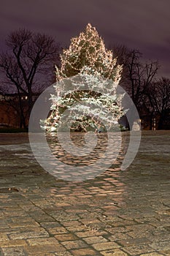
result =
[[124,45],[112,46],[118,64],[123,64],[120,86],[131,96],[139,116],[144,118],[143,128],[170,129],[170,79],[158,78],[158,61],[143,61],[139,50]]

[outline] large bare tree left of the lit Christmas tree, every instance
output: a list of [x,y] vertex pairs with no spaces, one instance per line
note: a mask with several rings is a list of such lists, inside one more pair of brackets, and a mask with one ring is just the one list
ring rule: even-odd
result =
[[[34,92],[42,91],[45,82],[50,82],[53,67],[58,63],[60,47],[52,37],[26,29],[9,34],[6,45],[7,52],[0,56],[0,69],[6,78],[1,91],[7,91],[7,84],[15,86],[10,91],[18,94],[20,126],[26,127],[24,108],[27,108],[29,116],[34,104]],[[27,98],[27,106],[23,106],[23,95]]]

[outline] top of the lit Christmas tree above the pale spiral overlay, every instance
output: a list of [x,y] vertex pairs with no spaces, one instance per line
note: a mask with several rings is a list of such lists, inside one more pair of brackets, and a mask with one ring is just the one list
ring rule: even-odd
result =
[[117,65],[117,58],[113,59],[112,51],[105,48],[103,39],[90,24],[79,37],[71,39],[69,49],[63,50],[61,69],[56,67],[56,80],[80,74],[85,67],[115,83],[121,78],[122,66]]

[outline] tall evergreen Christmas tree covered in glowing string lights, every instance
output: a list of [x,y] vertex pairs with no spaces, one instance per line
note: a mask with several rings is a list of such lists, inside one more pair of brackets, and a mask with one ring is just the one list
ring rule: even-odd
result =
[[112,51],[88,24],[85,32],[71,39],[69,49],[63,50],[61,68],[56,67],[57,95],[51,98],[51,113],[42,127],[55,132],[61,123],[68,122],[66,110],[72,116],[73,130],[104,130],[105,124],[107,129],[117,127],[123,115],[122,97],[116,94],[121,71]]

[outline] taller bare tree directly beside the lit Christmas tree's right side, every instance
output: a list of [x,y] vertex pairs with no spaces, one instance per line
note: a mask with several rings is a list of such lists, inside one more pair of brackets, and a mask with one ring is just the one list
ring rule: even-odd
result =
[[112,47],[118,64],[123,64],[120,85],[128,92],[138,108],[142,104],[145,89],[155,79],[158,61],[142,61],[139,50],[129,50],[124,45]]

